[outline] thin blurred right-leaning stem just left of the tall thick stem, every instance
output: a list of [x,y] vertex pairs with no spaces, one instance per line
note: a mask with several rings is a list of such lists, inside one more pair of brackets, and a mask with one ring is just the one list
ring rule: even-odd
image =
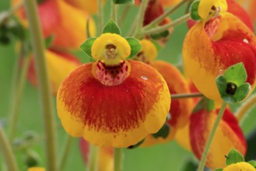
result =
[[[14,92],[12,92],[12,95],[14,96],[14,98],[12,98],[12,108],[11,108],[11,112],[9,113],[9,140],[12,141],[14,136],[15,136],[15,132],[16,132],[16,126],[18,123],[18,119],[19,119],[19,106],[21,103],[21,99],[23,96],[23,91],[24,91],[24,87],[25,87],[25,83],[26,83],[26,73],[27,70],[29,68],[29,64],[30,64],[30,56],[26,57],[23,61],[23,68],[20,72],[20,76],[19,76],[19,82],[18,82],[18,86],[16,87],[17,89],[13,89]],[[15,83],[15,82],[14,82]]]

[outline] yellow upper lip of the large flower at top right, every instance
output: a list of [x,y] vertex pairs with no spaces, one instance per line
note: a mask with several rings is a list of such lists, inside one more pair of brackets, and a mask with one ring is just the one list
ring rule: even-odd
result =
[[198,6],[198,14],[203,20],[219,15],[219,12],[226,12],[226,0],[201,0]]

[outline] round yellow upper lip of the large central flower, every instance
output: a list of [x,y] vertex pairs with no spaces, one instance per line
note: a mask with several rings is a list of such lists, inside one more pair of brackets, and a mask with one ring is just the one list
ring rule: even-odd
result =
[[92,46],[92,56],[105,65],[118,65],[131,54],[128,41],[116,33],[103,33]]

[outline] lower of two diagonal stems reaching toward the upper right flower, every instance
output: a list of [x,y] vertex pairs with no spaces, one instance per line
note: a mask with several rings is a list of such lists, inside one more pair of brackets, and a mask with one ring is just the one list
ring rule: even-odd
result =
[[169,29],[170,27],[177,26],[181,23],[184,23],[190,19],[190,14],[186,14],[184,16],[181,16],[181,18],[174,20],[173,22],[163,25],[163,26],[158,26],[156,28],[150,29],[150,30],[142,30],[142,33],[139,35],[139,37],[142,37],[145,34],[153,34],[153,33],[160,33],[164,30]]

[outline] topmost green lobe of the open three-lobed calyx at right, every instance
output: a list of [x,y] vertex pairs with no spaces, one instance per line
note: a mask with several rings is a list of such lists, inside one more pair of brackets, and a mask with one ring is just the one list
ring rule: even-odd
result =
[[247,79],[247,72],[242,62],[227,68],[224,75],[227,82],[233,82],[237,86],[243,84]]

